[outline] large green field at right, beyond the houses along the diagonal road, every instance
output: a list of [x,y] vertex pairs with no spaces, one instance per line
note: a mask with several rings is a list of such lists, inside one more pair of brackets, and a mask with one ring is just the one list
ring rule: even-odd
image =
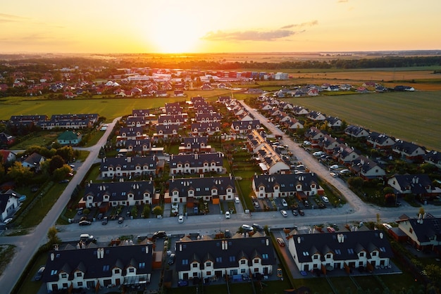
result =
[[371,131],[441,150],[441,91],[284,99]]

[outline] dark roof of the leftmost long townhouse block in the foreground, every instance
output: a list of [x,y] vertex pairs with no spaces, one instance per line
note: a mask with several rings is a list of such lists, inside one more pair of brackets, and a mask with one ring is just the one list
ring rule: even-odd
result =
[[73,249],[70,246],[67,250],[50,251],[42,281],[58,281],[58,274],[62,271],[66,271],[69,281],[75,279],[75,271],[82,271],[84,280],[110,277],[115,267],[120,268],[122,276],[126,276],[129,266],[136,268],[137,275],[151,273],[152,244],[120,245],[102,249],[102,258],[98,257],[97,247]]

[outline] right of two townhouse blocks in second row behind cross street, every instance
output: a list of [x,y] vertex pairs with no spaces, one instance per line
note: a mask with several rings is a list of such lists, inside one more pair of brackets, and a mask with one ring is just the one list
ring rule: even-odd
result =
[[202,174],[224,172],[223,153],[170,155],[170,174]]

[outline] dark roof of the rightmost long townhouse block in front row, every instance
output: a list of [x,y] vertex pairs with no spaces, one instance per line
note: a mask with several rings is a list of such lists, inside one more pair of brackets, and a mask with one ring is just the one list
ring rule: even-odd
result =
[[293,241],[299,262],[312,262],[315,253],[321,256],[333,253],[334,260],[356,260],[357,254],[363,250],[368,255],[378,250],[380,257],[390,258],[393,257],[393,253],[384,234],[383,231],[377,230],[299,234],[293,236]]

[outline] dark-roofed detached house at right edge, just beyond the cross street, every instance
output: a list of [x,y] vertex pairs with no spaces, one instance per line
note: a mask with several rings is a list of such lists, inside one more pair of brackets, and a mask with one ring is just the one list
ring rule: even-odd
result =
[[387,184],[394,188],[397,196],[414,194],[425,200],[441,194],[441,189],[433,186],[428,174],[395,174],[387,180]]

